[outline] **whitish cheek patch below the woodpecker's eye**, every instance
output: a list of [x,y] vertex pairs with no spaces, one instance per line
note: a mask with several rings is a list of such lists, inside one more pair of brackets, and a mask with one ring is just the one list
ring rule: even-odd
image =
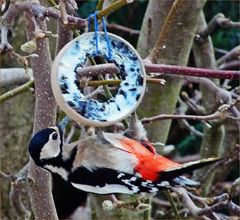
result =
[[49,159],[59,155],[60,141],[49,140],[40,152],[40,159]]

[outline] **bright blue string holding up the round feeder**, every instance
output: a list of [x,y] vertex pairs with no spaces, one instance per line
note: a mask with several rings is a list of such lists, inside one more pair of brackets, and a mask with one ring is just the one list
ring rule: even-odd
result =
[[[88,31],[91,31],[91,18],[93,18],[94,21],[94,32],[95,32],[95,41],[96,41],[96,54],[99,54],[99,47],[98,47],[98,41],[99,41],[99,36],[98,36],[98,31],[99,31],[99,26],[98,26],[98,19],[97,19],[97,12],[90,14],[88,16]],[[107,25],[106,25],[106,19],[102,17],[102,24],[103,24],[103,31],[104,31],[104,37],[107,43],[107,48],[108,48],[108,59],[112,59],[112,50],[111,50],[111,44],[110,40],[108,37],[108,32],[107,32]]]

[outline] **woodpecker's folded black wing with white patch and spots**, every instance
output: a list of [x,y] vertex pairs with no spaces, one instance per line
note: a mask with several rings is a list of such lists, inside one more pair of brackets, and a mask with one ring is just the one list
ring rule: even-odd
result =
[[89,170],[79,167],[69,176],[71,184],[80,190],[96,194],[156,192],[167,186],[156,185],[134,174],[117,172],[107,168]]

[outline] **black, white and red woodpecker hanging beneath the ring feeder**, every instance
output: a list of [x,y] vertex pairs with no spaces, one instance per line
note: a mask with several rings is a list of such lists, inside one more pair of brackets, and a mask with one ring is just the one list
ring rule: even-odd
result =
[[173,162],[156,153],[146,133],[135,134],[131,126],[125,134],[98,130],[96,135],[66,144],[63,142],[64,124],[36,133],[30,141],[29,153],[36,165],[86,192],[153,193],[171,185],[196,186],[197,182],[181,175],[218,160]]

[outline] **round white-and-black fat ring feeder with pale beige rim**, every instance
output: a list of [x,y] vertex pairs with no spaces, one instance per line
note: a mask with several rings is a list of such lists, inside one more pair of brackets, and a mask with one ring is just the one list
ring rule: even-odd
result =
[[[53,63],[51,84],[57,104],[73,120],[103,127],[124,119],[137,108],[144,95],[146,73],[140,56],[127,41],[109,33],[107,42],[104,32],[95,33],[82,34],[63,47]],[[123,78],[116,95],[106,102],[86,99],[78,88],[76,69],[96,55],[114,63]]]

